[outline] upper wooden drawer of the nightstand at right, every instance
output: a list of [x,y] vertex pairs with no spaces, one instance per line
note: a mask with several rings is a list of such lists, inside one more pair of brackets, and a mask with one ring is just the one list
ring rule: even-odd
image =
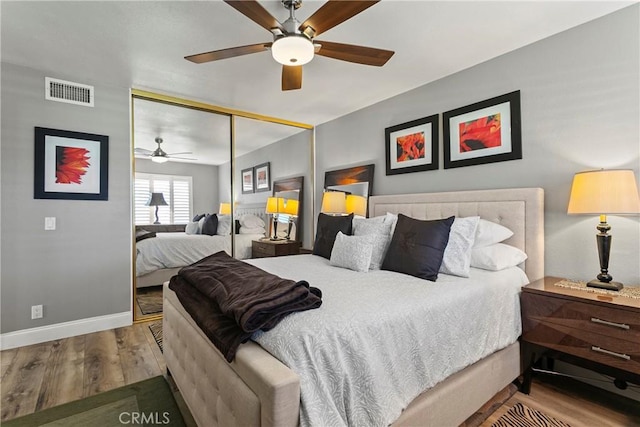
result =
[[522,294],[523,333],[539,322],[573,328],[635,343],[640,347],[640,316],[619,307],[532,293]]

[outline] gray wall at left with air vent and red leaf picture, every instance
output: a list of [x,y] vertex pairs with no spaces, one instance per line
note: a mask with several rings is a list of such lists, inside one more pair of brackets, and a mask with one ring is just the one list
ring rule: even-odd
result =
[[[43,72],[2,64],[3,333],[131,310],[129,90],[47,76],[95,85],[95,107],[45,101]],[[109,136],[108,201],[33,198],[35,126]]]

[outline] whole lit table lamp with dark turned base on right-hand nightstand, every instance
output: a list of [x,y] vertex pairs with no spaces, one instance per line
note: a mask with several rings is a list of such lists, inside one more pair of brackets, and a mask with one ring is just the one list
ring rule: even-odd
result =
[[600,274],[597,279],[587,283],[592,288],[618,291],[622,283],[612,282],[609,274],[609,253],[611,235],[607,232],[607,214],[635,214],[640,212],[640,198],[632,170],[598,170],[580,172],[573,177],[568,214],[600,215],[600,224],[596,227]]

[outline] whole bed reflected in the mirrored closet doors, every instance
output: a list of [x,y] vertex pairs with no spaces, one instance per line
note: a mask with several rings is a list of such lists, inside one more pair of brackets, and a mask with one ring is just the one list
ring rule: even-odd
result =
[[[250,215],[268,224],[264,211],[264,204],[236,207],[235,219],[240,222]],[[236,227],[241,229],[238,224]],[[156,230],[153,225],[141,228]],[[185,226],[170,225],[159,226],[154,234],[155,237],[136,242],[136,288],[161,285],[180,268],[218,251],[235,253],[238,259],[251,258],[251,242],[265,236],[264,233],[235,234],[232,250],[230,235],[187,234]]]

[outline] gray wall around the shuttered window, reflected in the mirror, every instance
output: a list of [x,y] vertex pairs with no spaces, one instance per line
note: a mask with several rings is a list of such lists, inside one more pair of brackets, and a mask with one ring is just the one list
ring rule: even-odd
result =
[[151,160],[136,159],[135,170],[192,177],[193,214],[218,212],[218,166],[180,162],[154,163]]

